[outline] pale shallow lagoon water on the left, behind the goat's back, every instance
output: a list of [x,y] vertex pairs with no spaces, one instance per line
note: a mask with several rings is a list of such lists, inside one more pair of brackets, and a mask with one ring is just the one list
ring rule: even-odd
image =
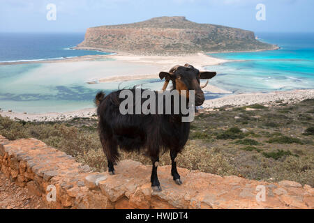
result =
[[135,70],[145,73],[150,68],[121,62],[119,65],[117,68],[114,61],[80,61],[0,66],[0,108],[28,113],[70,112],[93,107],[99,90],[110,92],[136,84],[146,89],[163,86],[159,79],[87,84],[107,76],[132,75]]

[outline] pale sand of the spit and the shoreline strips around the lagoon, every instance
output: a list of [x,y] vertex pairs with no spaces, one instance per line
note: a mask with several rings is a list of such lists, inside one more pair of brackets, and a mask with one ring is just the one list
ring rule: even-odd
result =
[[[97,59],[106,60],[96,61]],[[112,60],[108,61],[107,59]],[[100,83],[121,82],[135,79],[158,79],[158,73],[160,71],[168,71],[172,66],[177,64],[183,66],[185,63],[190,63],[191,65],[195,66],[195,68],[204,70],[204,66],[213,66],[225,62],[226,60],[217,59],[202,53],[187,56],[134,56],[132,54],[119,53],[114,55],[80,56],[59,61],[40,61],[40,63],[53,63],[54,65],[58,65],[57,68],[59,69],[60,67],[61,70],[90,69],[91,73],[92,70],[94,70],[94,73],[98,74],[94,76],[94,78],[96,78],[97,82]],[[121,67],[121,69],[116,69],[116,71],[109,73],[100,72],[101,70],[110,70],[110,67]],[[212,86],[210,84],[203,90],[211,93],[232,93],[230,91],[219,89],[218,87]],[[227,95],[223,98],[217,98],[214,100],[206,100],[204,102],[203,108],[214,109],[224,105],[242,106],[252,105],[255,103],[271,105],[271,102],[275,102],[277,100],[283,100],[284,102],[297,102],[307,98],[314,98],[314,90],[246,93],[238,95]],[[45,114],[24,114],[24,112],[14,111],[0,112],[1,116],[8,116],[13,119],[18,118],[24,121],[68,120],[75,117],[90,117],[94,114],[95,107],[74,112],[53,112]]]

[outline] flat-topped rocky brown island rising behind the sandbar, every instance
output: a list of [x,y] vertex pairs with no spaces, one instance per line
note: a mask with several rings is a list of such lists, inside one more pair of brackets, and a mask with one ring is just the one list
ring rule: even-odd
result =
[[144,22],[87,29],[76,49],[133,54],[193,54],[277,49],[256,40],[252,31],[198,24],[186,17],[155,17]]

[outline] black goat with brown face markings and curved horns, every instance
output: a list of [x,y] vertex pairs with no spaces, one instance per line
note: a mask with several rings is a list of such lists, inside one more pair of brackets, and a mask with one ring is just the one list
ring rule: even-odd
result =
[[[204,102],[204,93],[200,86],[200,79],[210,79],[216,75],[216,72],[200,72],[193,66],[175,66],[170,72],[160,72],[160,79],[165,78],[167,84],[172,81],[173,90],[179,91],[179,97],[182,90],[186,90],[188,100],[188,91],[195,91],[195,105],[200,106]],[[208,83],[208,82],[207,82]],[[206,84],[207,85],[207,84]],[[99,118],[98,130],[103,151],[108,160],[108,171],[114,174],[114,162],[119,159],[119,148],[125,151],[145,150],[151,158],[153,164],[151,172],[151,187],[153,190],[160,191],[160,183],[157,176],[157,167],[160,152],[170,150],[172,161],[171,174],[175,183],[181,185],[180,175],[177,171],[175,158],[180,153],[188,140],[190,132],[190,123],[182,122],[184,116],[179,114],[121,114],[119,107],[122,99],[119,94],[123,90],[114,91],[109,95],[100,91],[97,93],[95,102],[98,105],[97,114]],[[135,89],[131,89],[135,95]],[[141,90],[144,91],[144,90]],[[158,95],[157,91],[154,91]],[[135,98],[135,97],[134,97]],[[157,97],[156,97],[157,98]],[[180,98],[181,99],[181,98]],[[142,99],[141,105],[144,102]],[[134,109],[135,109],[135,103]],[[171,106],[174,105],[174,98],[171,99]],[[158,104],[156,103],[156,109]],[[164,106],[165,108],[165,106]]]

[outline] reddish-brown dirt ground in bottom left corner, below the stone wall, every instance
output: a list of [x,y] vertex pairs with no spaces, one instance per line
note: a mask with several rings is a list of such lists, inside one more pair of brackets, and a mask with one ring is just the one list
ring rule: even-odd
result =
[[45,203],[19,187],[0,172],[0,209],[45,209]]

